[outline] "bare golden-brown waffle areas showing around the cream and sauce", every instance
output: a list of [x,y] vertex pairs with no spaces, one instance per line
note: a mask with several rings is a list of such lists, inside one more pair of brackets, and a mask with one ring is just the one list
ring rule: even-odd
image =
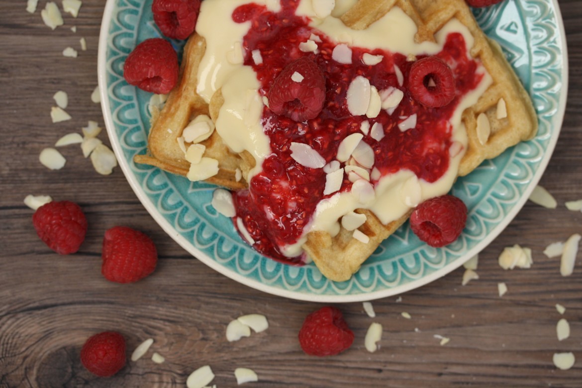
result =
[[[417,42],[434,41],[434,35],[439,29],[453,17],[458,19],[474,37],[471,56],[480,60],[492,77],[492,84],[487,91],[476,104],[463,112],[462,121],[467,129],[468,143],[460,162],[459,176],[467,175],[485,159],[494,158],[506,148],[535,136],[537,116],[529,95],[505,60],[498,44],[482,33],[464,0],[360,0],[341,19],[346,26],[363,30],[395,6],[416,23]],[[184,49],[179,86],[171,92],[165,108],[152,123],[148,154],[136,156],[137,163],[148,163],[172,173],[186,175],[189,163],[184,160],[183,151],[178,147],[176,138],[196,115],[207,114],[215,120],[222,105],[219,91],[215,93],[210,105],[205,104],[196,94],[197,67],[203,54],[204,39],[194,34]],[[507,110],[507,115],[502,118],[498,118],[500,99],[505,101]],[[490,134],[485,141],[478,129],[480,116],[486,116],[489,122]],[[250,155],[230,152],[216,131],[203,144],[207,147],[205,156],[219,161],[218,175],[207,181],[232,190],[245,187],[244,177],[253,167],[253,158]],[[243,172],[243,179],[240,181],[235,178],[236,169]],[[367,221],[358,228],[370,237],[367,244],[354,239],[353,232],[343,227],[335,236],[317,231],[307,234],[303,248],[328,279],[349,279],[378,245],[406,222],[410,215],[407,213],[384,225],[371,211],[358,209],[356,212],[367,216]]]

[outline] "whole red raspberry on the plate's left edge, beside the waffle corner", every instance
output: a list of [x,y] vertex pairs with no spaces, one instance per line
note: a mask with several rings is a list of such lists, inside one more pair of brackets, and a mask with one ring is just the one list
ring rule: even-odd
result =
[[157,94],[166,94],[178,82],[178,54],[162,38],[144,40],[127,55],[123,77],[130,85]]

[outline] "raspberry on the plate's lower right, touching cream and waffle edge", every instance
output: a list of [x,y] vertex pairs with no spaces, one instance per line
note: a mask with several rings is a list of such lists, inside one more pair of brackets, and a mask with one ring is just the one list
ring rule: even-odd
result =
[[467,207],[453,195],[424,201],[410,216],[410,228],[431,247],[443,247],[460,236],[467,222]]

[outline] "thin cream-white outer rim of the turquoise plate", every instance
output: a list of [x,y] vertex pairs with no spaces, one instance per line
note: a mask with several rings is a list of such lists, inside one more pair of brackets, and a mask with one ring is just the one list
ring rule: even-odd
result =
[[544,150],[544,156],[542,156],[542,160],[540,161],[540,165],[538,170],[534,173],[533,177],[531,177],[530,183],[528,184],[527,188],[524,190],[523,194],[516,201],[513,208],[506,213],[506,216],[503,218],[502,222],[500,222],[492,231],[488,234],[488,236],[481,240],[479,243],[475,244],[473,248],[468,250],[465,254],[466,259],[456,259],[455,261],[451,262],[448,265],[443,266],[435,270],[434,272],[421,277],[420,279],[413,280],[408,283],[400,284],[396,287],[391,287],[384,290],[376,290],[371,292],[363,292],[358,294],[314,294],[314,293],[305,293],[302,291],[297,290],[287,290],[282,289],[277,286],[271,286],[269,284],[261,283],[257,280],[250,279],[249,277],[243,276],[239,273],[234,272],[232,269],[223,266],[219,262],[215,261],[214,259],[208,257],[207,254],[200,251],[193,243],[186,240],[181,234],[176,232],[175,228],[166,220],[162,215],[161,212],[154,206],[150,198],[145,195],[143,188],[139,186],[137,183],[136,177],[134,176],[132,170],[130,169],[130,163],[126,161],[123,157],[123,149],[119,141],[116,140],[115,134],[115,124],[113,123],[109,98],[107,94],[107,43],[108,43],[108,36],[109,36],[109,29],[111,27],[111,19],[113,15],[113,10],[117,4],[118,0],[107,0],[105,3],[105,9],[103,12],[103,17],[101,20],[101,27],[100,27],[100,35],[99,35],[99,44],[98,44],[98,53],[97,53],[97,80],[98,80],[98,88],[100,91],[101,97],[101,110],[105,122],[105,127],[107,129],[107,133],[109,136],[109,141],[111,142],[111,146],[113,152],[118,159],[118,163],[120,168],[122,169],[123,175],[125,176],[127,182],[129,183],[130,187],[132,188],[134,194],[136,194],[137,198],[147,210],[148,213],[152,216],[155,222],[162,227],[164,232],[168,234],[176,243],[180,245],[184,250],[186,250],[189,254],[193,255],[194,258],[198,259],[198,261],[203,262],[203,264],[209,266],[210,268],[216,270],[217,272],[221,273],[222,275],[229,277],[232,280],[235,280],[237,283],[244,284],[245,286],[249,286],[253,289],[263,291],[268,294],[290,298],[294,300],[301,300],[301,301],[310,301],[310,302],[327,302],[327,303],[347,303],[347,302],[361,302],[361,301],[370,301],[370,300],[377,300],[379,298],[385,298],[389,296],[394,296],[397,294],[402,294],[407,291],[417,289],[418,287],[425,286],[428,283],[434,282],[435,280],[439,279],[446,274],[453,272],[453,270],[459,268],[461,265],[464,264],[466,259],[469,259],[473,255],[477,254],[478,252],[482,251],[485,247],[487,247],[493,240],[498,237],[503,230],[509,225],[510,222],[515,218],[517,213],[521,211],[524,204],[526,203],[528,197],[531,194],[531,191],[534,190],[535,186],[537,186],[538,182],[540,181],[541,177],[544,175],[545,170],[548,166],[550,159],[552,158],[553,151],[558,143],[558,138],[560,131],[562,129],[563,118],[566,111],[567,105],[567,91],[569,87],[569,63],[568,63],[568,55],[567,55],[567,42],[566,42],[566,33],[565,27],[562,19],[562,13],[560,11],[560,7],[557,0],[552,0],[553,10],[555,12],[556,22],[558,24],[559,30],[559,37],[561,41],[561,60],[562,60],[562,85],[563,87],[560,88],[560,94],[558,98],[558,111],[553,116],[550,125],[552,126],[553,131],[552,136],[549,140],[548,147]]

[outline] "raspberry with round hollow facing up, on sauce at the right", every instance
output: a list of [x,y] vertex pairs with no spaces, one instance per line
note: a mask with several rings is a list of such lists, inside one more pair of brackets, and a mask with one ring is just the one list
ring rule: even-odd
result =
[[426,56],[410,66],[408,87],[412,97],[427,108],[448,105],[455,98],[453,70],[438,56]]

